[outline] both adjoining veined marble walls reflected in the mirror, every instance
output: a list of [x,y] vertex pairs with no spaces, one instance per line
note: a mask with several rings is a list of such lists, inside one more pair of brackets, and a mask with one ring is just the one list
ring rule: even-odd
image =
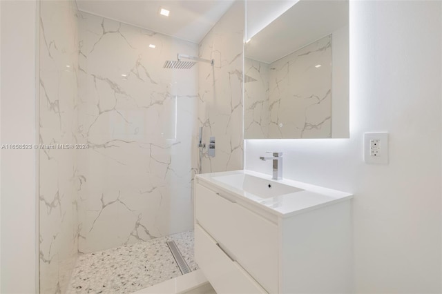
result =
[[271,64],[244,63],[246,139],[332,137],[332,35]]

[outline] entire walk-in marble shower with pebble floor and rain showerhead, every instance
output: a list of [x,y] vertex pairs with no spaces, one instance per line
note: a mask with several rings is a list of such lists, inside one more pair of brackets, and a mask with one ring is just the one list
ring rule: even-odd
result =
[[[87,146],[39,150],[40,293],[131,293],[198,268],[193,175],[242,168],[244,10],[228,2],[40,1],[39,144]],[[171,32],[129,24],[180,9]]]

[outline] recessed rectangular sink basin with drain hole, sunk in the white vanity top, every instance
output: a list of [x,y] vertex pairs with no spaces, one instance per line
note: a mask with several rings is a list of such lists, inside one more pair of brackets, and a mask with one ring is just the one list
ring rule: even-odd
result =
[[302,191],[300,188],[294,186],[288,186],[285,184],[280,184],[275,181],[268,179],[262,179],[261,177],[255,177],[253,175],[247,174],[236,174],[236,175],[222,175],[218,177],[213,177],[215,181],[222,182],[242,190],[245,193],[251,193],[260,198],[271,198],[278,197],[285,194],[291,194]]

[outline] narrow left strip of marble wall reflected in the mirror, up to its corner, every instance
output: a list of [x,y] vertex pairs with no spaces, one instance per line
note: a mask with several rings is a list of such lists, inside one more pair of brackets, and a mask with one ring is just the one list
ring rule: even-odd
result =
[[244,58],[244,138],[269,137],[268,63]]

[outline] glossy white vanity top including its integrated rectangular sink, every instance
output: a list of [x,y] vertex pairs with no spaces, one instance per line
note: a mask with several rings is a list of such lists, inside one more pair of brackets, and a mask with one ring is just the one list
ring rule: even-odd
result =
[[264,209],[281,217],[290,217],[353,197],[350,193],[291,179],[272,179],[271,175],[251,170],[206,173],[197,175],[196,179],[200,184],[218,190],[218,195],[230,202]]

